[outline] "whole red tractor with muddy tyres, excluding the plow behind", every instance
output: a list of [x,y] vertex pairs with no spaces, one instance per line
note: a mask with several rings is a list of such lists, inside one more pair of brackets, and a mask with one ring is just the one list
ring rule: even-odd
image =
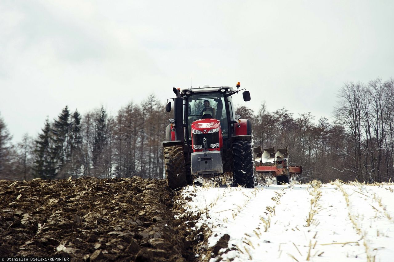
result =
[[[256,185],[250,120],[235,115],[232,87],[176,89],[166,111],[174,103],[174,118],[169,119],[163,142],[165,175],[169,188],[192,184],[194,178],[219,177],[233,173],[233,185]],[[242,93],[249,101],[249,91]]]

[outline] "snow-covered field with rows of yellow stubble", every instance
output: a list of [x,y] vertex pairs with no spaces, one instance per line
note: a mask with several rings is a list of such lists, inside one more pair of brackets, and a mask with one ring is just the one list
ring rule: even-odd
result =
[[392,183],[189,186],[183,194],[187,209],[201,212],[196,227],[212,231],[209,246],[230,236],[210,261],[394,261]]

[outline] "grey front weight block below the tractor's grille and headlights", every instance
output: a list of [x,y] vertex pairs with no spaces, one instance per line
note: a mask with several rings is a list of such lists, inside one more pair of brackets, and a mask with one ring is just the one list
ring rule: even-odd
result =
[[220,151],[191,153],[191,175],[223,173]]

